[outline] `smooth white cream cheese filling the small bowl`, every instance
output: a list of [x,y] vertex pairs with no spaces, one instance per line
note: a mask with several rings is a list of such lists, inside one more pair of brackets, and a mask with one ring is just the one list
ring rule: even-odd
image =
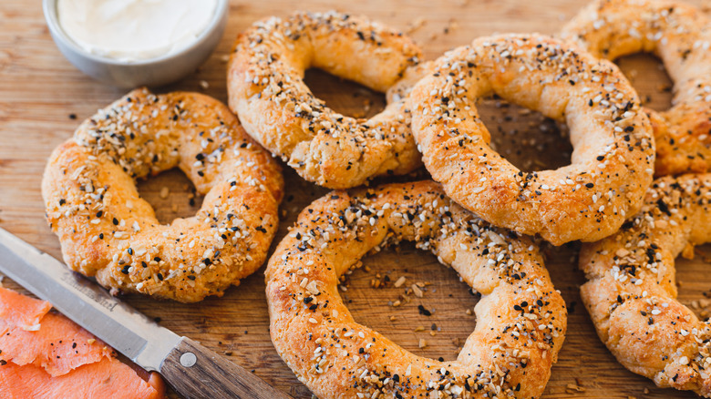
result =
[[57,17],[89,53],[139,62],[190,46],[216,8],[217,0],[57,0]]

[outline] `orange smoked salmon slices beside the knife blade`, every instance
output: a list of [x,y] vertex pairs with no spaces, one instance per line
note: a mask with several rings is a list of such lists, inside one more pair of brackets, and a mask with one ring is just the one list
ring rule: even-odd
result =
[[165,397],[157,373],[145,381],[116,352],[49,302],[0,287],[3,398]]

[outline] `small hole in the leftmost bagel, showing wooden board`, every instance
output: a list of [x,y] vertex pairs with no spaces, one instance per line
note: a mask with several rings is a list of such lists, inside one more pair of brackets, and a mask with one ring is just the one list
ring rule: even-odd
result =
[[160,224],[177,218],[190,218],[200,210],[202,196],[180,169],[166,170],[137,181],[140,198],[148,201]]

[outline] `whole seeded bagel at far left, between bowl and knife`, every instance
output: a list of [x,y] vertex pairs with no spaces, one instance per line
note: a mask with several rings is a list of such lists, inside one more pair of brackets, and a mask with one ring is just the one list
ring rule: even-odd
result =
[[[175,167],[205,198],[196,216],[161,225],[134,179]],[[42,195],[72,270],[113,291],[197,302],[266,259],[283,180],[221,102],[138,89],[55,149]]]

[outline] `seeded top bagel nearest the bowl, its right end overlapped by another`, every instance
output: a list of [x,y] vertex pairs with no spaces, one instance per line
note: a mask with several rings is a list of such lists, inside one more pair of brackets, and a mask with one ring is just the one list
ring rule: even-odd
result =
[[317,67],[385,92],[420,57],[407,36],[353,15],[267,18],[235,42],[230,107],[253,138],[316,184],[345,189],[405,174],[421,165],[403,96],[408,90],[387,96],[385,110],[373,118],[350,118],[314,97],[304,70]]

